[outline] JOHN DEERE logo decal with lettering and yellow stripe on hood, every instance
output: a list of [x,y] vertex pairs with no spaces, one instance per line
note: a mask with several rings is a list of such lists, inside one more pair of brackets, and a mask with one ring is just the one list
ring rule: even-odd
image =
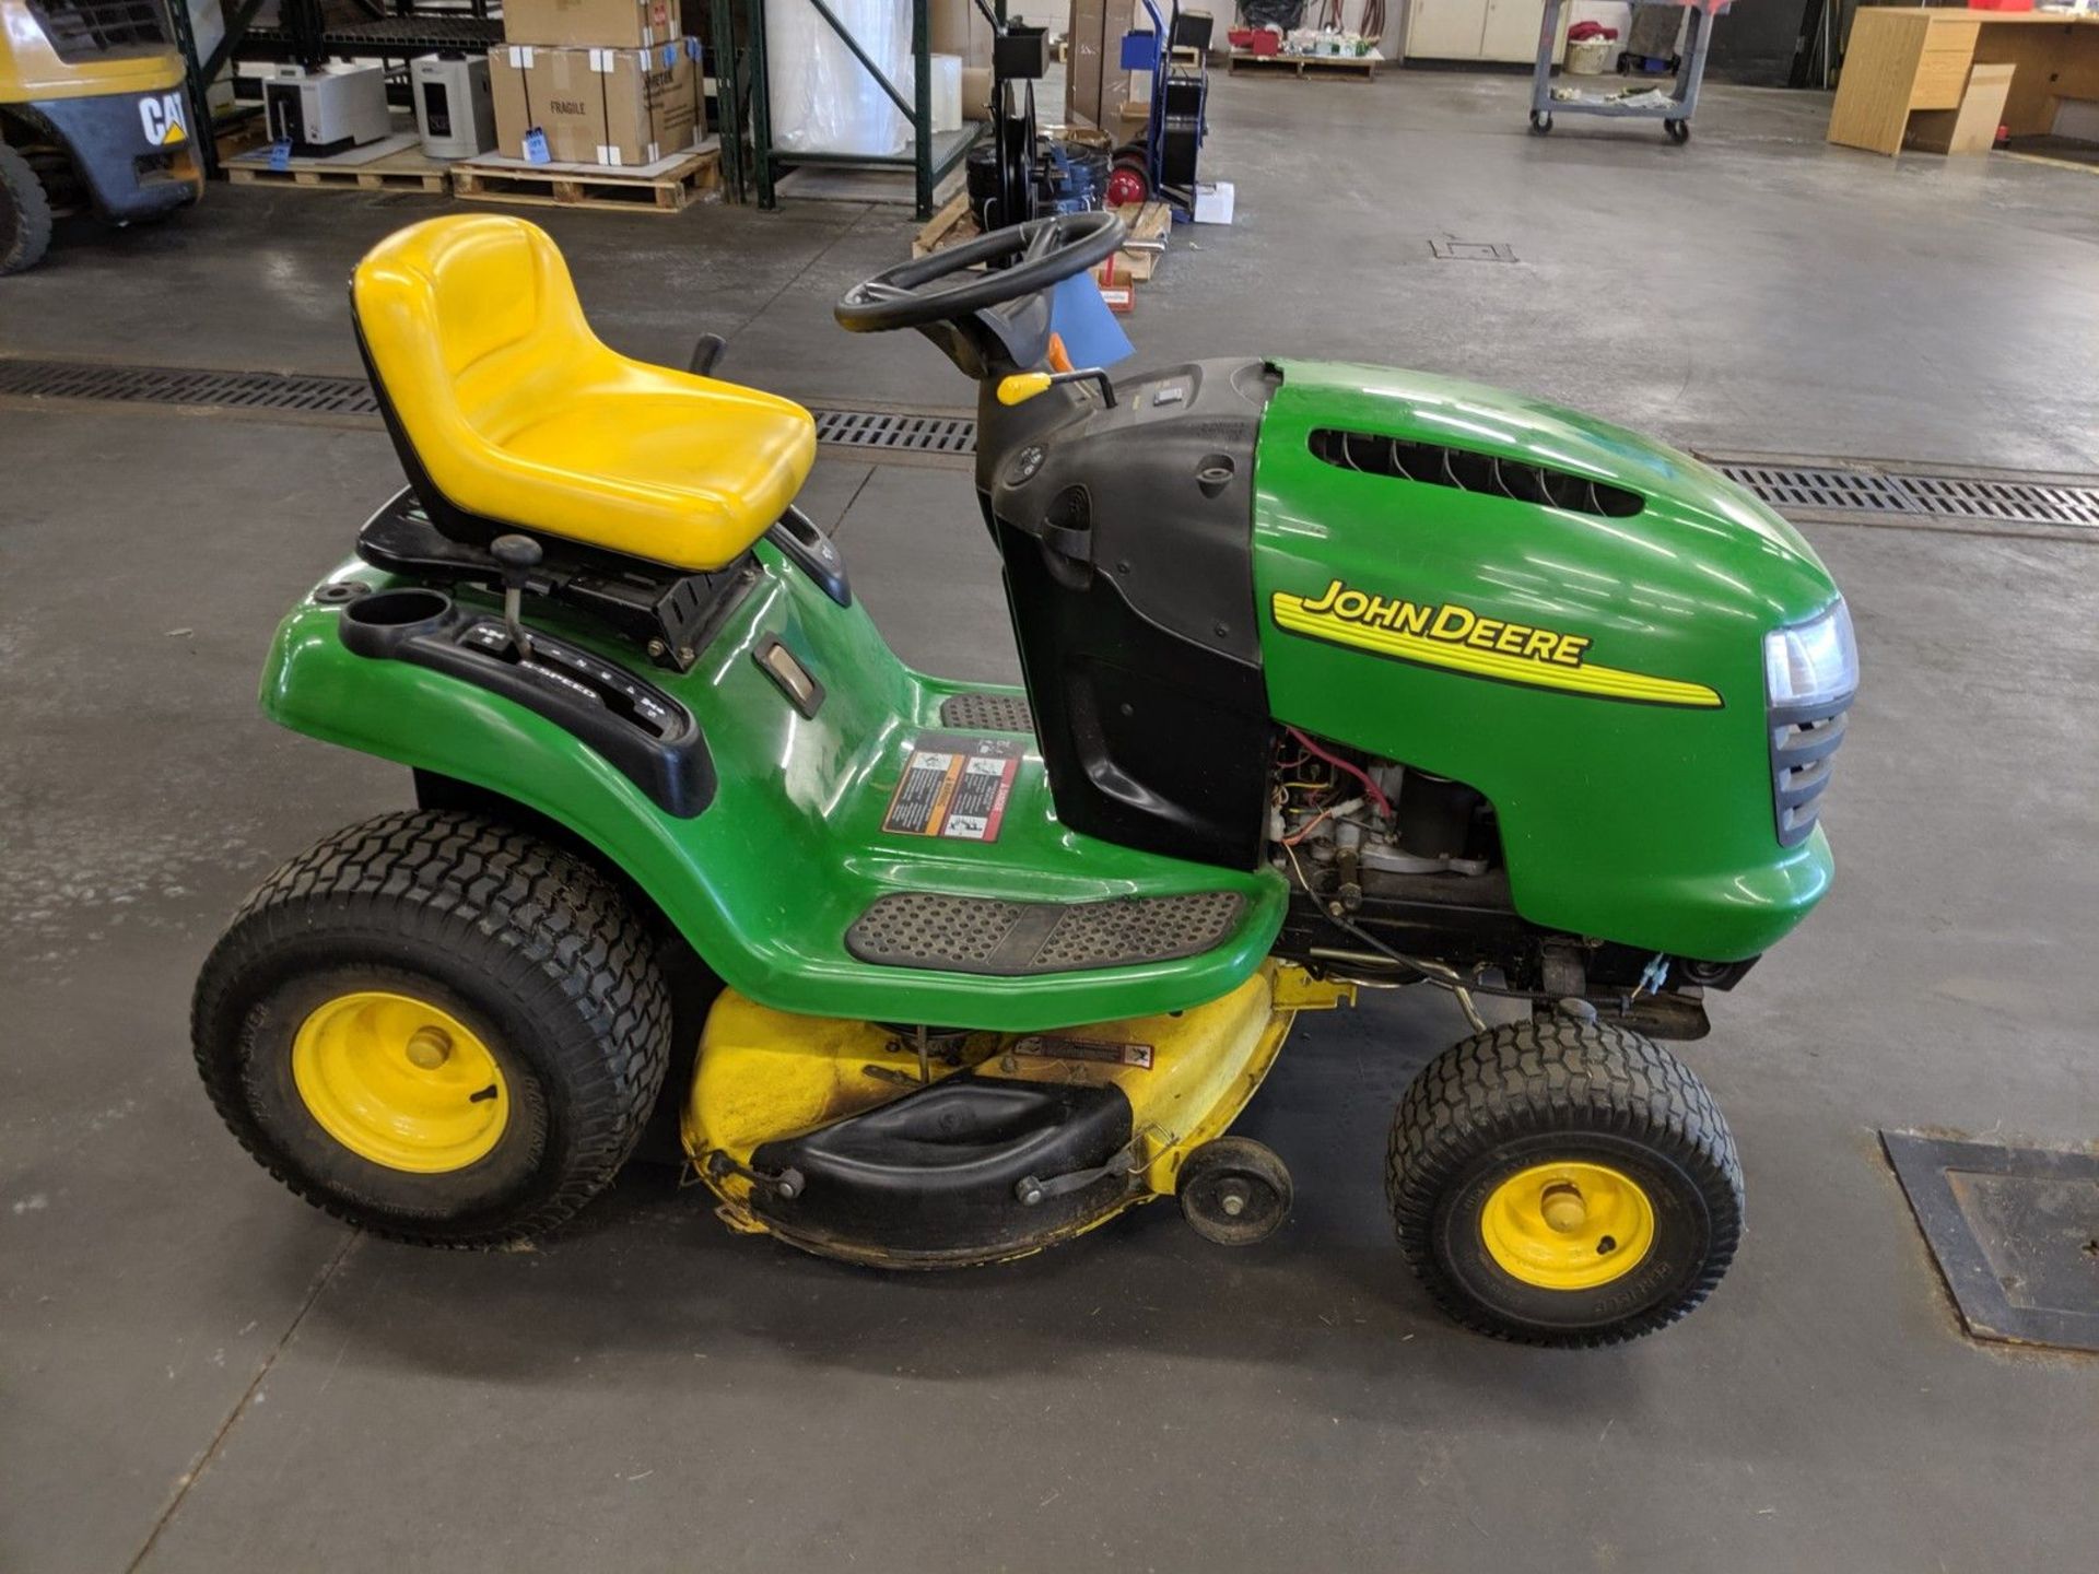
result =
[[1291,634],[1421,667],[1641,705],[1717,709],[1721,703],[1704,684],[1595,665],[1589,661],[1585,634],[1480,617],[1455,600],[1442,604],[1387,600],[1335,579],[1318,596],[1291,596],[1278,590],[1272,607],[1276,628]]

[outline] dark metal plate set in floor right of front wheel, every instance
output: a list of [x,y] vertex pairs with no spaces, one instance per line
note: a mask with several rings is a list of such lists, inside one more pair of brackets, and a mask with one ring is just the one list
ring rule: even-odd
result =
[[1977,1339],[2099,1352],[2099,1154],[1883,1131]]

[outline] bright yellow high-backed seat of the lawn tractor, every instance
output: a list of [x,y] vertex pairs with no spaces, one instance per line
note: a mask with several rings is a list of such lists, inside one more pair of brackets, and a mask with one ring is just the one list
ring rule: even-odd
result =
[[817,458],[800,405],[600,344],[554,241],[523,218],[388,235],[357,264],[351,309],[409,481],[447,535],[544,531],[722,569]]

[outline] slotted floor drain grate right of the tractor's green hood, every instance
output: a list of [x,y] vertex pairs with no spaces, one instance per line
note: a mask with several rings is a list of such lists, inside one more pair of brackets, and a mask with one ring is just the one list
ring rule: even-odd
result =
[[1715,464],[1715,468],[1780,512],[2099,529],[2099,485],[1864,466]]

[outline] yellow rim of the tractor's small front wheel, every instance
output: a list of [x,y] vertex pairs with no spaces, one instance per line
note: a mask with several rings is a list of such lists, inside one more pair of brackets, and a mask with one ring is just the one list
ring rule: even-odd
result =
[[1480,1213],[1488,1257],[1547,1291],[1625,1278],[1654,1247],[1654,1203],[1610,1165],[1532,1165],[1501,1182]]

